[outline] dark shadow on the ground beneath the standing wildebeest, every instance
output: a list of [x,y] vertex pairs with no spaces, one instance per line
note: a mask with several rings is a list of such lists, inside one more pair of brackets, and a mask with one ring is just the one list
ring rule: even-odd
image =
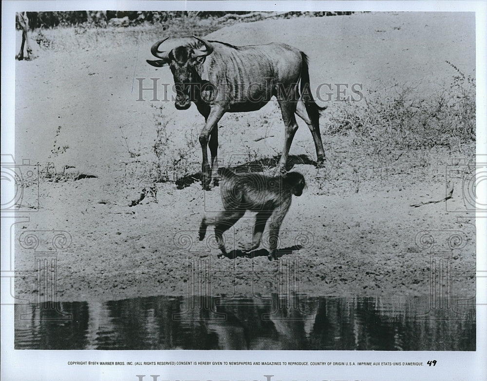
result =
[[[232,167],[232,170],[236,173],[249,173],[249,172],[262,172],[265,168],[276,167],[279,163],[281,155],[274,156],[272,158],[262,158],[259,160],[254,160],[252,162],[244,163]],[[290,171],[296,164],[311,164],[318,165],[317,162],[311,160],[307,155],[289,155],[287,157],[287,163],[285,166],[286,171]],[[196,181],[201,180],[201,172],[193,173],[191,175],[186,175],[176,180],[176,188],[184,189]]]

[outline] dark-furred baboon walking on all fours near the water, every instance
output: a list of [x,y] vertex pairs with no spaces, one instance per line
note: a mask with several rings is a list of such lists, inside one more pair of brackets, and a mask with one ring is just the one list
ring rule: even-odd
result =
[[215,237],[222,254],[227,255],[223,233],[231,228],[246,210],[257,212],[252,242],[245,251],[257,249],[261,244],[262,233],[269,221],[269,260],[277,259],[279,228],[291,206],[291,197],[301,196],[306,185],[303,175],[289,172],[275,177],[261,173],[236,174],[228,168],[221,168],[223,177],[221,196],[225,210],[214,217],[205,216],[200,225],[200,241],[205,238],[206,227],[215,226]]

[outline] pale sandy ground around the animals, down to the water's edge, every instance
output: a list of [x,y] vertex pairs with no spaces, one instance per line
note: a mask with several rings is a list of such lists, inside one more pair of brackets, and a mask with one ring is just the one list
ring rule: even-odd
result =
[[[318,83],[361,83],[380,90],[399,84],[424,95],[450,83],[455,73],[446,60],[474,76],[473,14],[268,20],[225,27],[208,38],[300,47],[310,57],[312,88]],[[71,245],[57,252],[58,300],[187,295],[188,290],[269,294],[280,287],[310,295],[424,295],[430,292],[431,251],[452,253],[453,292],[474,295],[474,222],[467,213],[451,212],[465,211],[462,179],[451,183],[448,203],[411,206],[443,199],[446,165],[471,152],[407,152],[386,164],[358,158],[351,140],[323,133],[326,167],[294,167],[304,174],[308,188],[293,200],[284,219],[282,257],[274,262],[262,249],[253,257],[218,259],[211,244],[208,248],[197,241],[205,208],[218,205],[218,187],[203,192],[198,183],[182,190],[173,182],[161,183],[157,202],[148,196],[129,207],[145,186],[144,165],[134,163],[129,151],[138,152],[140,161],[149,160],[157,115],[164,115],[161,123],[176,145],[191,132],[196,140],[203,122],[194,106],[177,111],[172,103],[149,102],[147,92],[148,101],[137,101],[134,78],[146,78],[145,87],[152,77],[173,82],[168,68],[155,70],[145,63],[152,42],[61,53],[37,49],[37,59],[16,62],[17,161],[52,162],[57,171],[71,167],[60,181],[40,178],[40,208],[26,214],[29,220],[15,229],[17,237],[24,231],[53,229],[71,235]],[[333,102],[329,106],[331,111],[336,107]],[[315,160],[311,135],[298,123],[291,154]],[[257,112],[225,115],[220,126],[219,159],[224,164],[245,162],[249,149],[264,157],[281,152],[283,124],[274,102]],[[56,152],[58,146],[66,148]],[[193,151],[190,165],[198,168],[200,149],[195,145]],[[75,180],[79,174],[96,178]],[[20,208],[19,215],[25,210]],[[249,240],[252,222],[246,216],[227,240]],[[433,232],[434,248],[415,243],[424,231]],[[460,231],[463,241],[451,250],[453,231]],[[16,295],[28,299],[41,292],[33,254],[17,241],[15,269],[21,273]],[[298,281],[289,286],[290,279]]]

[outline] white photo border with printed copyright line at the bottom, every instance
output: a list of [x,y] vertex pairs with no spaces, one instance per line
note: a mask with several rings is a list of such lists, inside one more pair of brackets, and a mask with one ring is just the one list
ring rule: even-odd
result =
[[[262,11],[444,11],[476,13],[477,154],[487,153],[486,104],[486,26],[485,1],[2,1],[1,36],[1,153],[14,154],[15,110],[15,12],[90,10],[262,10]],[[485,181],[477,189],[486,195]],[[2,192],[8,192],[2,183]],[[482,217],[482,216],[479,216]],[[3,380],[481,380],[487,374],[487,262],[486,218],[477,218],[477,350],[474,352],[428,351],[98,351],[98,350],[14,350],[14,307],[1,306],[1,378]],[[9,273],[5,263],[10,247],[9,232],[2,218],[2,275]],[[3,285],[3,281],[2,281]],[[2,287],[2,300],[9,290]],[[69,361],[371,361],[426,362],[431,367],[285,367],[285,366],[143,366],[88,367],[68,365]],[[272,377],[271,377],[272,375]]]

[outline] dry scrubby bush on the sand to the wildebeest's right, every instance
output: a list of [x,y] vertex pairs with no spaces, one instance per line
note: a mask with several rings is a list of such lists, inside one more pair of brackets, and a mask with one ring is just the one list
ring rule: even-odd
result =
[[418,98],[399,85],[367,91],[363,102],[346,102],[332,111],[328,133],[351,136],[367,153],[452,147],[475,141],[475,79],[457,67],[450,85]]

